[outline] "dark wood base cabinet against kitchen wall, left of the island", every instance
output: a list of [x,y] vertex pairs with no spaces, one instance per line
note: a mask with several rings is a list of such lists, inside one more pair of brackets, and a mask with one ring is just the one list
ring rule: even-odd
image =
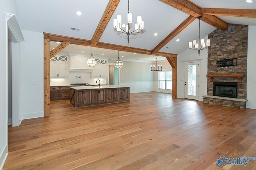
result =
[[50,101],[70,99],[69,86],[50,87]]

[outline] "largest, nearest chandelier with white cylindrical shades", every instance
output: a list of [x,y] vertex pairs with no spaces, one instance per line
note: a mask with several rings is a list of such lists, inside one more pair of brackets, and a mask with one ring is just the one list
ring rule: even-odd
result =
[[[122,29],[122,16],[118,15],[117,19],[114,19],[114,28],[120,35],[127,36],[127,40],[129,43],[130,35],[136,36],[138,33],[141,33],[144,29],[144,21],[142,21],[141,16],[137,16],[137,24],[134,25],[134,31],[131,31],[130,28],[132,26],[132,14],[129,12],[129,0],[128,0],[128,14],[127,14],[127,22],[128,25],[125,25],[125,30]],[[132,36],[132,37],[134,37]]]

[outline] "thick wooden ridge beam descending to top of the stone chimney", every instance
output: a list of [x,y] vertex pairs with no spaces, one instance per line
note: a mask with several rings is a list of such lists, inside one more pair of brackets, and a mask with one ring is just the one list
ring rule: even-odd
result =
[[202,21],[216,28],[219,28],[220,30],[228,29],[228,23],[224,22],[223,20],[221,20],[216,16],[202,14],[202,8],[200,6],[197,6],[193,2],[190,2],[188,0],[160,0],[160,1],[178,10],[186,12],[191,16],[194,16],[194,17],[202,16],[202,19],[201,19]]

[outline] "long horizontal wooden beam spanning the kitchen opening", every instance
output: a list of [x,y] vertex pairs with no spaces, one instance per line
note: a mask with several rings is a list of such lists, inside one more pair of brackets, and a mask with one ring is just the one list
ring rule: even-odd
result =
[[[90,47],[92,46],[90,43],[91,42],[90,40],[84,40],[84,39],[80,39],[80,38],[72,38],[72,37],[67,37],[67,36],[59,36],[56,34],[44,33],[44,38],[49,39],[50,41],[54,41],[54,42],[70,42],[71,44],[76,44],[76,45],[85,45],[85,46],[90,46]],[[177,57],[177,54],[164,53],[164,52],[156,52],[153,54],[152,51],[149,49],[127,47],[127,46],[115,45],[115,44],[103,43],[103,42],[98,42],[97,45],[94,47],[126,51],[126,52],[131,52],[131,53],[157,55],[157,56],[162,56],[162,57]]]

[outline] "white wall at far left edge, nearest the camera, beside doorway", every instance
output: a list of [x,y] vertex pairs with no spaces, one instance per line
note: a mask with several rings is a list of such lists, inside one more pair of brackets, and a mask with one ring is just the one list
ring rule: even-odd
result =
[[6,57],[8,42],[4,12],[17,14],[15,0],[1,0],[0,5],[0,169],[8,151],[8,58]]

